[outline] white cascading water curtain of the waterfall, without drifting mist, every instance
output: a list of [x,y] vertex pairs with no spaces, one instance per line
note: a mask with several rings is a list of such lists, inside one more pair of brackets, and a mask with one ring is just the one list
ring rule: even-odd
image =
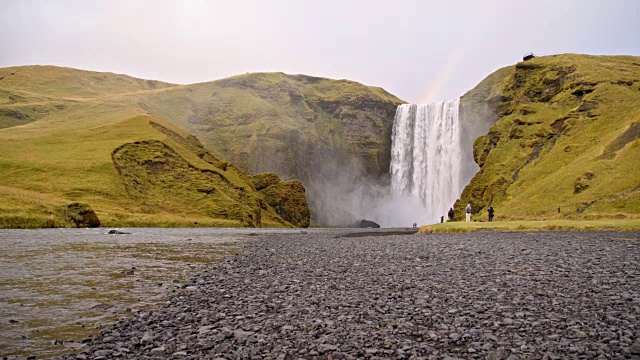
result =
[[[391,141],[392,191],[419,199],[423,223],[445,216],[462,193],[463,150],[458,100],[400,105]],[[471,160],[472,161],[472,160]]]

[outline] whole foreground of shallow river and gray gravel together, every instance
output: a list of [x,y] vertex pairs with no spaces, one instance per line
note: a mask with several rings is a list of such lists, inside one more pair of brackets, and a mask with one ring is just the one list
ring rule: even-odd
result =
[[638,233],[122,230],[0,230],[0,357],[640,357]]

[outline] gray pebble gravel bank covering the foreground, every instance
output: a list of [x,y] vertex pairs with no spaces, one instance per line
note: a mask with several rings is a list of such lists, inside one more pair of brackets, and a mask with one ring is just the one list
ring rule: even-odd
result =
[[78,358],[638,359],[640,234],[263,234]]

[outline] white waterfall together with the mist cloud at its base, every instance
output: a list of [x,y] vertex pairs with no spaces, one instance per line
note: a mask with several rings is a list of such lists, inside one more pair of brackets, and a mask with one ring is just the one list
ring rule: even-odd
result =
[[367,219],[382,227],[440,222],[479,169],[473,139],[488,128],[465,126],[461,128],[458,100],[400,105],[388,176],[367,177],[358,164],[328,159],[309,187],[317,220],[353,226]]

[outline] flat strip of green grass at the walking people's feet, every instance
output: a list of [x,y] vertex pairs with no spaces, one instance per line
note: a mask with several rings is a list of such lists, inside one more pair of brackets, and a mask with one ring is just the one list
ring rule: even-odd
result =
[[[640,231],[640,219],[448,222],[420,227],[419,234],[475,231]],[[640,241],[640,238],[638,238]]]

